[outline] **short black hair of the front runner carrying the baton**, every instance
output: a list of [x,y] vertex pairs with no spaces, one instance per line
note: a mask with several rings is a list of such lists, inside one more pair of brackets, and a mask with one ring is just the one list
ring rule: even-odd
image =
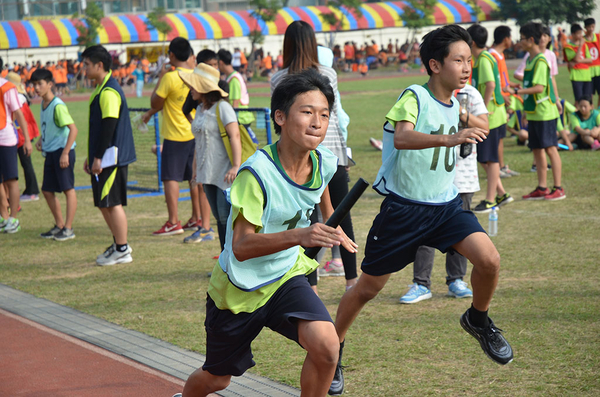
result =
[[275,133],[281,134],[281,126],[275,122],[275,111],[282,111],[286,116],[298,95],[310,91],[320,91],[327,98],[329,111],[333,112],[335,95],[329,79],[313,68],[301,72],[288,74],[277,85],[271,96],[271,119],[275,126]]

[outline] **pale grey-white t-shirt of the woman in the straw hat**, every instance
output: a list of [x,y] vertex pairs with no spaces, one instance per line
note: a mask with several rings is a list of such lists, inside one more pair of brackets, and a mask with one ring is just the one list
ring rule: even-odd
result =
[[235,110],[227,101],[219,101],[208,110],[204,110],[202,105],[198,106],[192,122],[192,133],[196,139],[196,182],[225,190],[231,187],[231,184],[225,182],[225,174],[231,168],[231,162],[219,131],[217,104],[224,126],[237,123]]

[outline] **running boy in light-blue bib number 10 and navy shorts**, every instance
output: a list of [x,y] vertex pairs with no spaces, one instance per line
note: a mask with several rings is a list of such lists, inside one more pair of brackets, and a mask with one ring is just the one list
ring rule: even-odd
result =
[[[385,196],[367,237],[362,275],[343,296],[337,311],[340,343],[362,307],[385,286],[391,273],[415,259],[422,245],[442,252],[455,250],[473,263],[473,306],[461,317],[463,328],[485,353],[500,364],[512,360],[512,349],[487,315],[500,269],[500,255],[472,212],[461,207],[453,184],[455,147],[481,142],[487,131],[458,131],[459,104],[452,96],[471,73],[471,37],[448,25],[428,33],[421,58],[430,76],[412,85],[386,116],[382,166],[374,189]],[[329,393],[341,394],[340,360]]]

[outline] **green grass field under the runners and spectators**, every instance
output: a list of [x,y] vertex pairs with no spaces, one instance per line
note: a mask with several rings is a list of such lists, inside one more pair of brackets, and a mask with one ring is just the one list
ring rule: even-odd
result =
[[[401,90],[424,81],[419,76],[340,82],[344,108],[352,118],[353,180],[374,180],[381,155],[369,145],[369,137],[381,136],[385,113]],[[564,68],[559,90],[572,100]],[[256,97],[252,105],[267,106],[268,101]],[[148,104],[148,98],[130,101],[131,107]],[[89,177],[81,168],[87,102],[68,106],[80,129],[76,184],[86,185]],[[39,106],[33,111],[39,113]],[[505,146],[506,162],[521,175],[503,180],[517,199],[500,211],[499,233],[493,237],[502,269],[490,315],[512,344],[514,361],[504,367],[494,364],[461,329],[458,319],[470,302],[445,296],[443,255],[438,254],[433,299],[398,303],[412,282],[409,266],[391,277],[350,329],[345,395],[600,395],[600,153],[562,152],[567,199],[524,202],[519,198],[537,182],[529,172],[532,155],[512,138]],[[33,158],[41,178],[41,155]],[[484,191],[485,179],[480,182]],[[474,202],[482,198],[479,192]],[[137,198],[127,207],[134,262],[100,268],[94,260],[111,243],[110,234],[93,207],[91,191],[78,192],[78,200],[77,238],[64,243],[38,237],[52,226],[43,201],[23,204],[22,231],[0,235],[0,282],[203,353],[207,273],[215,264],[218,241],[184,245],[183,236],[151,236],[166,220],[164,198]],[[353,209],[361,251],[381,201],[369,189]],[[189,202],[181,202],[180,218],[187,220],[189,214]],[[487,219],[479,219],[487,228]],[[360,261],[362,253],[358,256]],[[319,282],[332,315],[343,291],[342,279]],[[253,372],[299,386],[304,354],[295,343],[265,330],[253,347]]]

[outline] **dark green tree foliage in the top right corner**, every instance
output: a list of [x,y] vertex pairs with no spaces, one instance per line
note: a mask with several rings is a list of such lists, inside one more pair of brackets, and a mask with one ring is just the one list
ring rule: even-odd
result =
[[498,0],[500,7],[493,18],[514,18],[518,25],[541,21],[545,25],[575,23],[596,9],[594,0]]

